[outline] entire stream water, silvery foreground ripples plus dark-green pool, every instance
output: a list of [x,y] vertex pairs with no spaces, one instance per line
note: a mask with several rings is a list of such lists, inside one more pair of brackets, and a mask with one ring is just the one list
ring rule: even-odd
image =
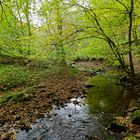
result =
[[[106,129],[112,114],[123,114],[130,100],[115,81],[97,76],[89,79],[86,98],[73,98],[54,106],[49,117],[36,121],[29,132],[18,130],[17,140],[119,140],[121,134]],[[92,137],[92,138],[91,138]]]

